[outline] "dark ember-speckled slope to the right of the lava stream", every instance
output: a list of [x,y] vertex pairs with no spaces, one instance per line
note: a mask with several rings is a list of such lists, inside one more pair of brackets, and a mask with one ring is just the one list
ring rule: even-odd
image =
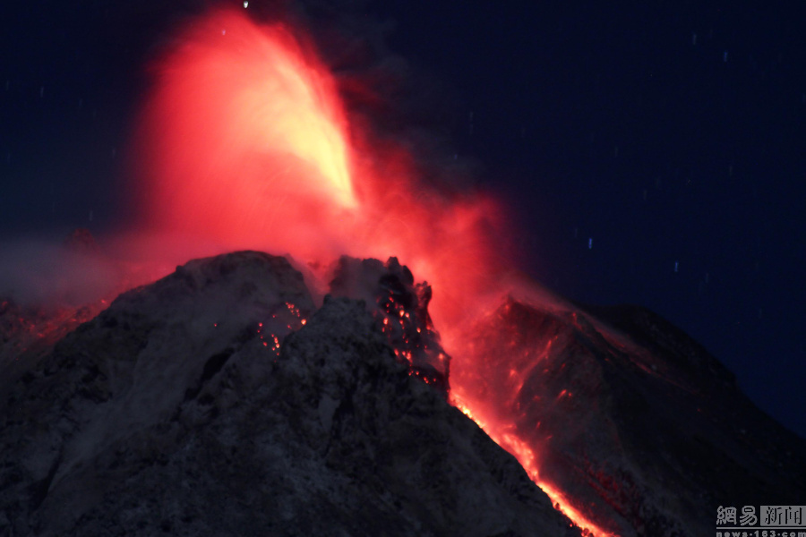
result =
[[485,361],[455,369],[545,481],[624,537],[710,534],[719,506],[802,503],[806,444],[713,356],[646,309],[584,308],[510,300],[470,331]]

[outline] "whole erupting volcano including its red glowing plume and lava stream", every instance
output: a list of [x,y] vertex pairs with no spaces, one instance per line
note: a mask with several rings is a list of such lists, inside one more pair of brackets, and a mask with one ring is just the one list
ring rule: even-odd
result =
[[501,200],[373,115],[361,47],[246,4],[159,47],[124,228],[5,269],[0,535],[672,537],[799,503],[803,440],[716,358],[521,275]]

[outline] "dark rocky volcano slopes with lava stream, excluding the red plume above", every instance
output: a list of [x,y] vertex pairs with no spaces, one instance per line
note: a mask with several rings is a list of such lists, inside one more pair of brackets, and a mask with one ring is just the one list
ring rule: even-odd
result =
[[398,260],[331,274],[241,251],[4,323],[0,534],[696,535],[806,492],[802,439],[651,311],[510,297],[471,374]]

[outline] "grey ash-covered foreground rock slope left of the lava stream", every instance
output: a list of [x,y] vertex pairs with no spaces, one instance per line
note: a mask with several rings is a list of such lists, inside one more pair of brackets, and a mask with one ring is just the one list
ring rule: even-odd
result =
[[409,374],[364,304],[287,260],[192,261],[0,393],[0,535],[572,535]]

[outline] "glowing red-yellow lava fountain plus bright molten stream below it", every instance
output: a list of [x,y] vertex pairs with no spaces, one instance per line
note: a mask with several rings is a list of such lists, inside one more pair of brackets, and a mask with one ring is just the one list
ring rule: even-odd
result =
[[[450,353],[460,337],[451,327],[500,298],[500,209],[477,192],[419,182],[406,150],[348,125],[337,81],[295,36],[227,10],[179,33],[153,68],[135,140],[141,226],[219,251],[288,252],[313,267],[342,254],[397,256],[433,286],[430,310]],[[540,482],[532,448],[490,425],[553,503],[597,532]]]

